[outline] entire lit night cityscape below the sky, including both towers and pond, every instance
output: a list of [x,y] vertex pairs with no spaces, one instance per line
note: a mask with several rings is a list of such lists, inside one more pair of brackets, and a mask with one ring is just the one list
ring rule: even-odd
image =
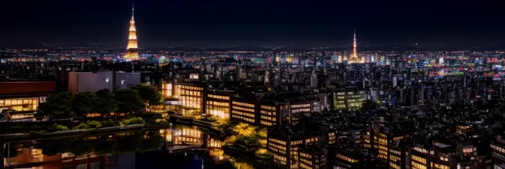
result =
[[505,168],[505,50],[0,49],[1,168]]

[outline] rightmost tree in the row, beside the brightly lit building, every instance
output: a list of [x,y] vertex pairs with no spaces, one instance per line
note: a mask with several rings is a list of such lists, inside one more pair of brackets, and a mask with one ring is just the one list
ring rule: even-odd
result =
[[147,84],[137,84],[132,86],[131,89],[136,90],[142,101],[144,101],[145,105],[160,105],[162,103],[161,93],[154,88],[154,86],[150,86]]

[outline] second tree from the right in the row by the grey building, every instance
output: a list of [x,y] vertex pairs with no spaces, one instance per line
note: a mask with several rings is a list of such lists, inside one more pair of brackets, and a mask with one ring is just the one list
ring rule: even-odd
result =
[[137,91],[132,89],[118,90],[114,93],[114,98],[117,101],[117,112],[121,113],[137,113],[145,107],[144,102]]

